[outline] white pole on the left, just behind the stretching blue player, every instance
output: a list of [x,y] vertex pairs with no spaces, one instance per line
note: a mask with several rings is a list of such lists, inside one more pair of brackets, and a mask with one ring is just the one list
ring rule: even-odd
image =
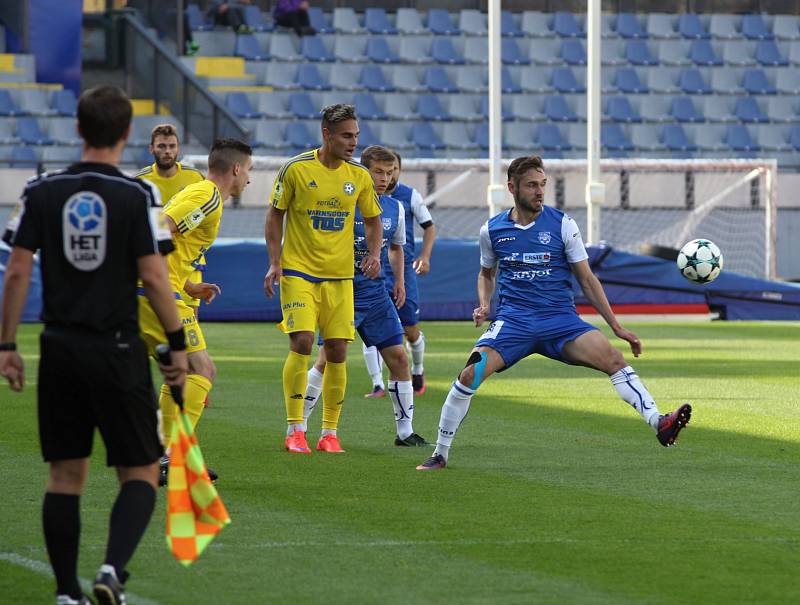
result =
[[489,0],[489,186],[486,205],[494,216],[505,195],[502,180],[503,121],[502,73],[500,63],[500,0]]

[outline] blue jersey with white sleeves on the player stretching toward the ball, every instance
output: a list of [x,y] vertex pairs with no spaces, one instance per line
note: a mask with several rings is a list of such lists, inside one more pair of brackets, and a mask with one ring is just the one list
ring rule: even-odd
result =
[[481,265],[498,267],[500,309],[529,314],[575,309],[570,263],[589,258],[575,220],[544,206],[527,226],[509,218],[510,210],[481,227]]

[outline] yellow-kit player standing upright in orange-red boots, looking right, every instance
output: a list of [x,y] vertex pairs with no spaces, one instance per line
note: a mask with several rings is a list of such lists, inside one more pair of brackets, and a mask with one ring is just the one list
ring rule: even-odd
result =
[[358,119],[352,105],[322,110],[322,141],[322,147],[293,157],[280,169],[264,227],[270,258],[264,291],[271,297],[280,283],[283,321],[279,327],[289,335],[289,355],[283,366],[285,445],[294,453],[311,452],[303,430],[303,395],[317,328],[328,360],[317,449],[343,451],[336,428],[347,386],[347,343],[354,332],[356,205],[364,217],[369,248],[360,266],[370,278],[378,275],[381,266],[381,207],[369,171],[352,159],[358,144]]

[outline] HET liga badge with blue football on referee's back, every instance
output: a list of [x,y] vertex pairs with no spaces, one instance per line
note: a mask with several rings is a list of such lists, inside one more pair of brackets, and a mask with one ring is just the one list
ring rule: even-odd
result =
[[79,271],[94,271],[106,258],[106,204],[93,191],[79,191],[64,204],[64,256]]

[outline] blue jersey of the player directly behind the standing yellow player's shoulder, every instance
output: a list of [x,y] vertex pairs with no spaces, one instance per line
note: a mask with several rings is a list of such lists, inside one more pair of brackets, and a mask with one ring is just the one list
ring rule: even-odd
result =
[[[361,212],[356,208],[354,235],[355,240],[355,274],[353,276],[353,297],[356,307],[363,307],[383,300],[386,297],[385,271],[388,268],[387,249],[389,244],[402,246],[405,243],[405,216],[402,212],[400,202],[388,195],[382,195],[380,199],[381,222],[383,223],[383,244],[381,245],[381,272],[375,279],[364,276],[359,268],[362,259],[367,255],[367,231],[364,227],[364,219]],[[386,259],[386,260],[383,260]]]

